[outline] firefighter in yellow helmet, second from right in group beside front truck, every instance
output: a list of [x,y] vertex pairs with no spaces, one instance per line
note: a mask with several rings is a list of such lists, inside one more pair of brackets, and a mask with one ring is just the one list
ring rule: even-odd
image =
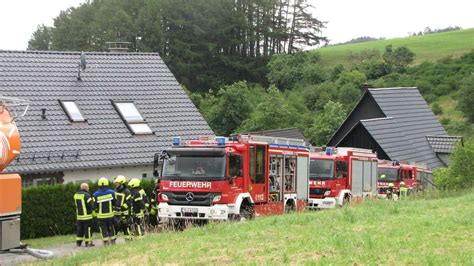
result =
[[140,188],[140,180],[138,178],[132,178],[132,180],[128,182],[128,186],[130,187],[130,192],[132,193],[131,216],[133,221],[133,234],[141,238],[145,233],[144,218],[146,206],[143,194],[140,192],[142,190]]

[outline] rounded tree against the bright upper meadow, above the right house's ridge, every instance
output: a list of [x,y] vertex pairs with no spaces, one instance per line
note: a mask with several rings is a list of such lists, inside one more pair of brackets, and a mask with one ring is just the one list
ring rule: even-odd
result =
[[387,45],[383,54],[383,60],[389,73],[403,73],[414,59],[415,54],[405,46],[397,47],[393,50],[391,44]]

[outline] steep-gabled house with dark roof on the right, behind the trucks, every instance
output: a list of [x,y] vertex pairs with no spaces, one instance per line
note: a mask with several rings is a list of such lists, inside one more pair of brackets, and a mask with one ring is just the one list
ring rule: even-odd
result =
[[365,91],[328,146],[372,149],[380,159],[438,168],[447,166],[459,140],[448,136],[418,89],[374,88]]

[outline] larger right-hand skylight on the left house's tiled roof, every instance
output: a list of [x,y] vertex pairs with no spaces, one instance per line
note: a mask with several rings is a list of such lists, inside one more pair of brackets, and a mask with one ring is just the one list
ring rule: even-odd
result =
[[113,104],[133,134],[153,134],[153,131],[148,124],[145,123],[145,119],[133,102],[113,102]]

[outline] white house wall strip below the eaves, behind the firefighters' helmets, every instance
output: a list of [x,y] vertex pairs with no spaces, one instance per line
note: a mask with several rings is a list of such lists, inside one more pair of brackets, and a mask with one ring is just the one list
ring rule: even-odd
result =
[[135,177],[142,179],[144,174],[146,174],[146,179],[153,178],[153,167],[149,165],[64,171],[64,184],[94,182],[101,177],[106,177],[112,181],[118,175],[123,175],[128,180]]

